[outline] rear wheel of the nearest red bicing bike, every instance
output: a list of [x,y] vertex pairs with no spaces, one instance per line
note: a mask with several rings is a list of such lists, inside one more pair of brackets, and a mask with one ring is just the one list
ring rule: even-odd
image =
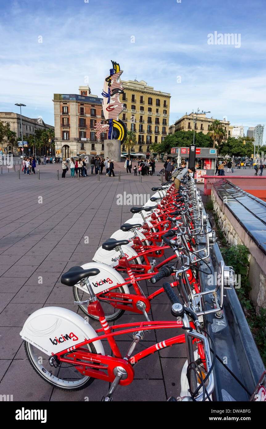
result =
[[[33,346],[28,341],[24,340],[24,347],[30,365],[37,374],[52,386],[61,390],[81,390],[89,386],[94,378],[81,374],[75,366],[66,362],[60,362],[57,368],[51,366],[47,354],[43,353],[39,348]],[[96,353],[96,349],[92,343],[87,344],[90,353]],[[74,351],[72,353],[75,353]],[[67,353],[69,355],[69,353]],[[63,355],[65,356],[65,355]]]

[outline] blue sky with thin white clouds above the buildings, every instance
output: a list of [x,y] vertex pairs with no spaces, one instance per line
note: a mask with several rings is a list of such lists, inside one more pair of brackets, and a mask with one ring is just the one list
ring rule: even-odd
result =
[[[53,94],[77,94],[88,76],[100,97],[116,60],[122,79],[171,94],[170,124],[198,107],[232,125],[266,124],[265,22],[256,0],[1,0],[0,111],[24,103],[24,115],[53,125]],[[215,31],[240,34],[240,47],[209,45]]]

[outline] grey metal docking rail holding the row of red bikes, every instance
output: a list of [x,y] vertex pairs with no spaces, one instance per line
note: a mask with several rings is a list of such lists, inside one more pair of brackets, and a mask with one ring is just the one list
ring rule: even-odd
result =
[[[200,247],[203,240],[204,237],[198,240],[197,248]],[[210,284],[208,274],[199,272],[200,284],[204,291],[211,290],[216,285],[218,266],[222,259],[216,243],[211,247],[208,262],[214,283]],[[200,263],[200,269],[209,271],[204,261]],[[206,329],[215,343],[217,356],[228,366],[251,395],[265,368],[235,289],[226,289],[224,292],[226,298],[224,299],[222,317],[215,317],[215,314],[204,316],[207,321]],[[220,299],[220,290],[218,290],[218,299]],[[205,308],[213,308],[213,305],[214,302],[212,302],[211,297],[206,296]],[[248,393],[217,359],[214,366],[214,377],[215,389],[212,396],[215,401],[248,401],[250,399]]]

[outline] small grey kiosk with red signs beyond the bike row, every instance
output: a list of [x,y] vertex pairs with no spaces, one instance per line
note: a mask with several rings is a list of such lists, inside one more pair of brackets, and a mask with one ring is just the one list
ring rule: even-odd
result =
[[[188,166],[189,148],[171,148],[170,158],[176,158],[177,166],[181,165],[181,161],[185,160]],[[204,176],[214,176],[215,164],[217,158],[216,148],[196,148],[195,160],[195,179],[197,184],[202,184],[204,187]],[[200,187],[201,188],[201,187]]]

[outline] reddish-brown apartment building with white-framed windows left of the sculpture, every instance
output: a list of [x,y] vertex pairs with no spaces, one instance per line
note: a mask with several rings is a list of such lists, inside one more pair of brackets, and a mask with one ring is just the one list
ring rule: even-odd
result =
[[104,154],[107,133],[96,139],[96,122],[106,124],[102,98],[92,95],[89,86],[80,86],[79,94],[54,94],[54,133],[56,148],[63,157],[79,154]]

